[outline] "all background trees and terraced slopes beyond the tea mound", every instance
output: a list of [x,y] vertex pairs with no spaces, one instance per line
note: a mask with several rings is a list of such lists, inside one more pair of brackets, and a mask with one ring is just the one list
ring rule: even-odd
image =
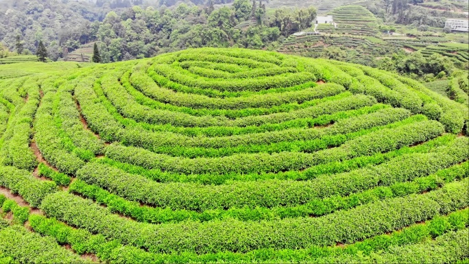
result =
[[[29,60],[15,56],[37,53],[42,42],[41,53],[54,61],[107,63],[188,48],[245,47],[363,64],[422,82],[469,69],[467,34],[444,29],[446,18],[465,18],[466,7],[455,1],[3,2],[0,64]],[[332,14],[337,27],[315,27],[324,14]],[[293,35],[313,30],[320,34]],[[461,101],[461,95],[450,98]]]

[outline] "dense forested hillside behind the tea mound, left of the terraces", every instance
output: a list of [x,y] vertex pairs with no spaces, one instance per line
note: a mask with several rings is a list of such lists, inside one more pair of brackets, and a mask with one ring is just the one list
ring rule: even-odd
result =
[[116,11],[110,11],[112,5],[15,1],[0,14],[4,25],[0,40],[15,50],[19,36],[25,51],[32,53],[43,40],[52,60],[66,58],[68,51],[97,41],[103,61],[111,62],[189,47],[274,49],[285,36],[311,27],[316,16],[315,8],[267,12],[265,4],[257,0],[236,0],[216,9],[214,3],[182,3],[171,8],[135,5],[119,9],[125,5],[117,5]]

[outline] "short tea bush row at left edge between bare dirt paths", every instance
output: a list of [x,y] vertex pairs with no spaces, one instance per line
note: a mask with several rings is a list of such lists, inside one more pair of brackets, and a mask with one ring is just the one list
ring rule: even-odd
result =
[[32,207],[38,207],[45,195],[57,191],[55,183],[38,180],[29,171],[16,167],[0,167],[0,186],[18,193]]

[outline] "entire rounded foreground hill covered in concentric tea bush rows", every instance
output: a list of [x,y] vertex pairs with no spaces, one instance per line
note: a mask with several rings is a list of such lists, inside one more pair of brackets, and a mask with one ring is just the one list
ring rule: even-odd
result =
[[269,51],[2,64],[0,263],[469,263],[468,119]]

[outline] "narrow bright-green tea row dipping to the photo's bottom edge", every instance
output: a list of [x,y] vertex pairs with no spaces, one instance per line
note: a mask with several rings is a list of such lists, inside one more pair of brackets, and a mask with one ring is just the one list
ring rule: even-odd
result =
[[[49,235],[58,239],[60,243],[68,243],[73,250],[96,254],[101,261],[110,263],[257,263],[276,259],[279,262],[294,261],[313,263],[315,259],[327,256],[354,256],[361,252],[369,256],[373,252],[389,252],[393,246],[421,243],[430,236],[431,230],[437,226],[440,232],[450,230],[464,230],[467,226],[466,215],[468,209],[450,213],[447,216],[436,217],[426,221],[423,225],[412,225],[402,229],[402,232],[392,232],[389,235],[378,235],[364,241],[346,245],[345,248],[312,246],[299,250],[261,249],[248,253],[218,252],[197,255],[191,252],[184,254],[155,254],[121,245],[118,241],[106,241],[102,235],[92,235],[83,229],[75,229],[56,219],[48,219],[40,215],[32,215],[29,222],[32,228],[41,235]],[[443,225],[440,223],[444,223]],[[439,228],[439,227],[442,228]]]

